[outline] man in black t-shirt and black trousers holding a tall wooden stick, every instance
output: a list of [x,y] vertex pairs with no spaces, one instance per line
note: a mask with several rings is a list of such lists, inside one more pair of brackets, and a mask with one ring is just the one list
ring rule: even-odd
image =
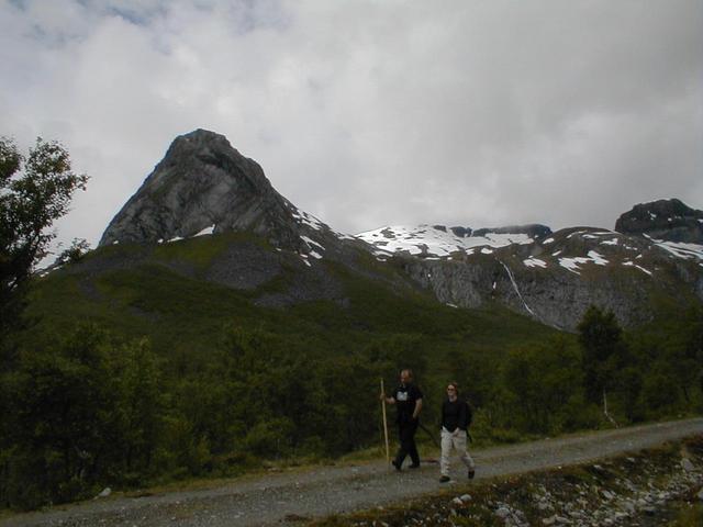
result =
[[412,460],[411,469],[420,467],[420,455],[415,445],[415,431],[420,424],[419,416],[422,410],[422,392],[413,384],[413,372],[403,370],[400,372],[400,385],[393,395],[387,397],[384,393],[381,399],[386,399],[388,404],[394,404],[398,410],[395,422],[398,423],[398,435],[400,437],[400,449],[395,459],[391,461],[395,470],[400,470],[405,456],[410,455]]

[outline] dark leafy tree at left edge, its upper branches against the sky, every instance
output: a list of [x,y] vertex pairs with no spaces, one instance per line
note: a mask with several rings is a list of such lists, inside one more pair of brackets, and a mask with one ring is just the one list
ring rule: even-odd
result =
[[0,137],[0,341],[15,326],[23,285],[55,236],[46,229],[87,181],[71,171],[60,144],[37,138],[24,157],[13,141]]

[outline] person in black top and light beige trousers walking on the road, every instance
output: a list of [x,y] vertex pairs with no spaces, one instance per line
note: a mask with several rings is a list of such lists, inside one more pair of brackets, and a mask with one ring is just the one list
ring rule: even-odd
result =
[[469,469],[469,480],[476,474],[476,466],[471,456],[466,450],[467,429],[469,426],[469,405],[459,399],[459,389],[456,382],[447,385],[447,399],[442,403],[442,470],[440,483],[446,483],[449,478],[449,453],[454,447],[464,464]]

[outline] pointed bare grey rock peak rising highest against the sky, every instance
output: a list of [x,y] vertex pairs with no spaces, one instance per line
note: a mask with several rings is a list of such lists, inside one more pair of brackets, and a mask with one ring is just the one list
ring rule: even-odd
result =
[[199,128],[174,139],[100,245],[159,243],[210,229],[250,231],[275,245],[298,247],[295,215],[255,160],[224,135]]

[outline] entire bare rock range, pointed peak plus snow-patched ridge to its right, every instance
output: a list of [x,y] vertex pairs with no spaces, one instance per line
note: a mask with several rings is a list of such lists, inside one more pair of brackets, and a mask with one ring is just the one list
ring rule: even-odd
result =
[[[258,298],[258,305],[316,299],[344,305],[343,288],[323,265],[334,261],[353,273],[386,280],[392,274],[397,283],[420,285],[445,304],[479,309],[498,303],[573,330],[591,304],[612,310],[625,325],[637,325],[665,305],[703,302],[702,224],[703,212],[662,200],[636,205],[617,220],[615,231],[395,225],[347,236],[281,197],[259,165],[224,136],[198,130],[174,141],[100,245],[154,247],[249,233],[269,248],[233,244],[205,278],[246,290],[287,276],[288,290]],[[365,264],[368,258],[377,260],[373,272]]]

